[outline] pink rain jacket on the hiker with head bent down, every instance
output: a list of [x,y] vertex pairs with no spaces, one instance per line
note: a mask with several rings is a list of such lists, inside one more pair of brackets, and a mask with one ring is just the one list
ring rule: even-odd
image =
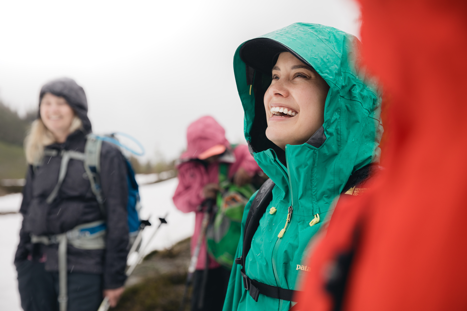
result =
[[[184,213],[195,212],[195,232],[191,238],[191,253],[193,253],[198,242],[198,236],[201,231],[201,222],[203,212],[198,209],[199,205],[205,200],[203,196],[203,187],[208,183],[217,183],[219,180],[219,162],[211,163],[207,167],[203,164],[190,161],[197,159],[200,154],[215,145],[225,145],[227,149],[231,146],[225,138],[225,130],[212,117],[201,117],[190,124],[187,131],[187,151],[182,154],[180,160],[182,163],[178,168],[178,187],[173,196],[175,206]],[[232,178],[240,167],[243,167],[250,176],[261,172],[255,159],[248,152],[248,146],[239,145],[233,149],[235,161],[231,164],[228,177]],[[199,252],[197,270],[205,269],[206,262],[206,243],[203,241]],[[219,264],[210,258],[209,269],[219,267]]]

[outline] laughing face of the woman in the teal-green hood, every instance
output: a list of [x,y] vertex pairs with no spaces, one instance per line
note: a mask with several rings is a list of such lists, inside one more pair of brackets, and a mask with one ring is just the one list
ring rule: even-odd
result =
[[264,94],[266,137],[282,149],[304,144],[324,122],[329,85],[289,52],[279,55]]

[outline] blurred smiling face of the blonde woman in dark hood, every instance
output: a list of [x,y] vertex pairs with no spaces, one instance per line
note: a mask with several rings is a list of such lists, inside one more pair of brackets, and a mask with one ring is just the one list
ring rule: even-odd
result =
[[[63,97],[45,93],[41,101],[41,119],[56,138],[68,136],[75,112]],[[63,140],[63,139],[59,139]]]

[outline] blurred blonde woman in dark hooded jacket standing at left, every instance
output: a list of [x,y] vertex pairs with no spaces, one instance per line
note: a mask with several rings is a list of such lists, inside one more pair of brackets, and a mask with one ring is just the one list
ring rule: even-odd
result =
[[[127,169],[120,150],[106,142],[101,147],[102,206],[92,192],[82,160],[69,160],[64,179],[56,187],[63,155],[85,152],[89,133],[91,122],[83,88],[68,78],[45,84],[39,97],[38,118],[25,140],[29,166],[20,210],[24,218],[15,256],[21,306],[25,311],[95,311],[103,296],[109,297],[114,306],[123,292],[128,190]],[[52,194],[55,188],[58,191]],[[56,240],[61,234],[87,224],[97,224],[92,230],[100,230],[101,244],[105,246],[86,249],[75,247],[70,240],[65,242],[68,273],[64,294],[61,289],[64,282],[59,282]]]

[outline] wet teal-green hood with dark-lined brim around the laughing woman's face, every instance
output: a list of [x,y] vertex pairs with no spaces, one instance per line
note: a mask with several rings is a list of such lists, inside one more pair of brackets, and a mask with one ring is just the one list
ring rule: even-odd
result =
[[[259,166],[282,190],[283,204],[312,215],[331,209],[350,175],[379,161],[381,97],[357,66],[360,41],[336,28],[295,23],[237,48],[233,68],[245,111],[244,133]],[[265,134],[263,97],[278,53],[289,51],[329,85],[323,126],[285,152]],[[306,205],[305,205],[306,203]]]

